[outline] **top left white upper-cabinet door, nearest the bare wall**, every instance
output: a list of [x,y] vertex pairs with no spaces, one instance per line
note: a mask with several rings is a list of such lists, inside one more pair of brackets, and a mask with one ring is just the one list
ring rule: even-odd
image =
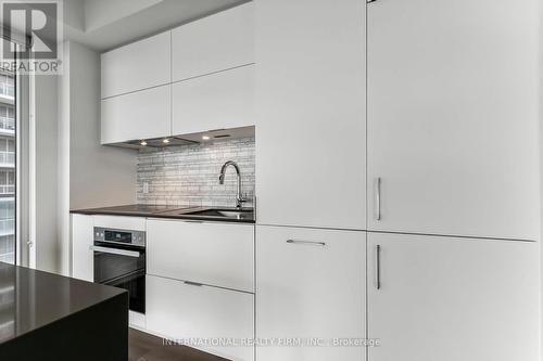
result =
[[103,53],[102,99],[171,82],[171,31]]

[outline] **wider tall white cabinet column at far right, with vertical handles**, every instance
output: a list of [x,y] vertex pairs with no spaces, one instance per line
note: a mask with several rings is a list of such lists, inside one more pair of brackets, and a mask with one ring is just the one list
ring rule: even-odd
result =
[[370,361],[540,359],[539,31],[536,0],[367,4]]

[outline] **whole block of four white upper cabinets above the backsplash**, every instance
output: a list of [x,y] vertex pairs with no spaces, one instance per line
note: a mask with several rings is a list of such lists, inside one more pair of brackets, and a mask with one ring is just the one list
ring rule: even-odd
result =
[[102,144],[253,126],[253,17],[245,3],[102,54]]

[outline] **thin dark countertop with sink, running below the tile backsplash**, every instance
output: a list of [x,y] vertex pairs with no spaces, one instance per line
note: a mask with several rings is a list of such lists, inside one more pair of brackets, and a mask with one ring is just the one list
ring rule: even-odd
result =
[[[212,207],[179,207],[179,206],[165,206],[165,205],[142,205],[131,204],[113,207],[100,207],[88,209],[73,209],[72,214],[81,215],[106,215],[106,216],[129,216],[129,217],[146,217],[146,218],[167,218],[167,219],[189,219],[201,221],[218,221],[218,222],[236,222],[236,223],[254,223],[254,212],[249,217],[243,218],[228,218],[228,217],[210,217],[189,215],[190,212],[204,211],[214,209]],[[224,208],[225,210],[236,210],[236,208]],[[252,210],[252,208],[244,208]]]

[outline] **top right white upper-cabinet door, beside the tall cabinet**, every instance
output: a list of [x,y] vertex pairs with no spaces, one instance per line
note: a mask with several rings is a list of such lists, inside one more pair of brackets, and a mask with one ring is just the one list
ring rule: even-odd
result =
[[254,62],[253,3],[172,30],[173,81]]

